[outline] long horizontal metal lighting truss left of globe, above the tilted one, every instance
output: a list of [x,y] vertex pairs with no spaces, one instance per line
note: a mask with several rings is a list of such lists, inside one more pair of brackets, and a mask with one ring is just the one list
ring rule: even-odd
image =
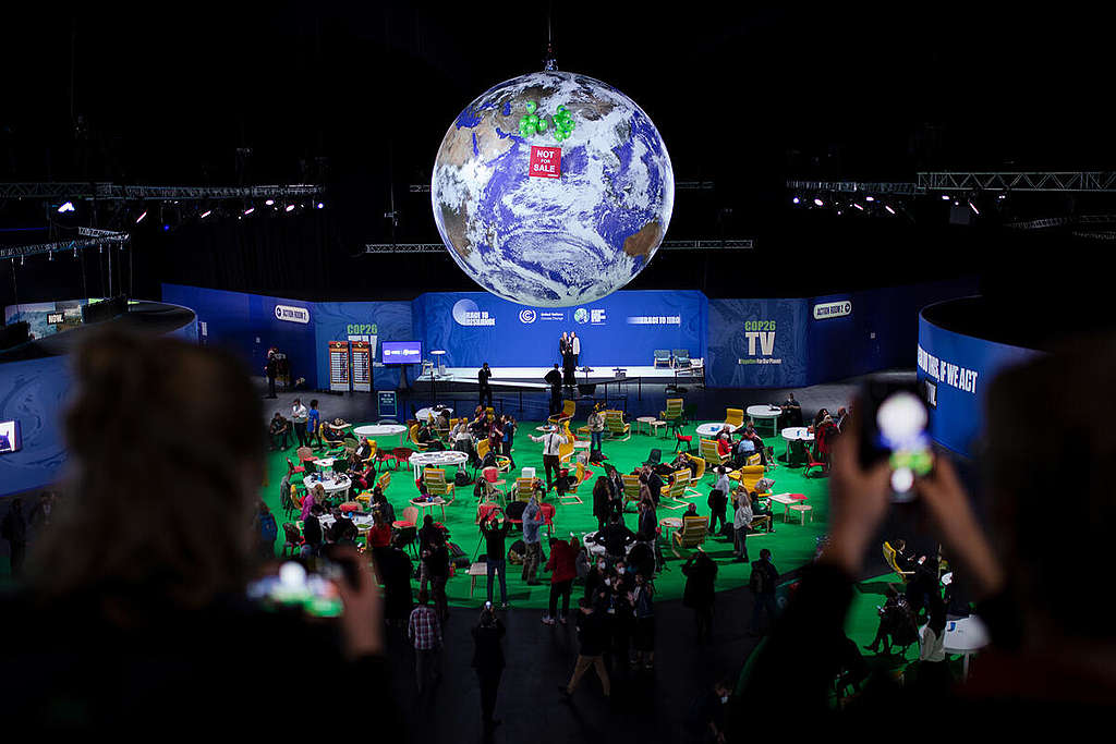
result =
[[0,183],[3,199],[95,199],[102,201],[198,201],[221,199],[288,199],[325,192],[320,184],[270,186],[123,186],[97,182]]

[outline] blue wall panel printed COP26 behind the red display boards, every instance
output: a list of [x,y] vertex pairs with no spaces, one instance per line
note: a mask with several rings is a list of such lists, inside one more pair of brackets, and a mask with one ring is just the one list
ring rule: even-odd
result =
[[[325,348],[329,341],[367,340],[373,345],[373,386],[377,390],[394,390],[400,385],[400,366],[383,363],[384,341],[416,341],[411,323],[411,302],[316,302],[314,323],[317,328],[319,387],[328,387],[329,358]],[[425,348],[423,349],[425,352]],[[412,366],[412,378],[417,369]]]

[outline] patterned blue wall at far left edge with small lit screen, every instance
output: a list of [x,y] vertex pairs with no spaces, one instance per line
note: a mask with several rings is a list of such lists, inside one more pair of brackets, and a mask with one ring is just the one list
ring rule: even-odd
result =
[[68,357],[0,365],[0,421],[17,419],[22,435],[19,452],[0,455],[0,496],[41,489],[61,474],[68,365]]

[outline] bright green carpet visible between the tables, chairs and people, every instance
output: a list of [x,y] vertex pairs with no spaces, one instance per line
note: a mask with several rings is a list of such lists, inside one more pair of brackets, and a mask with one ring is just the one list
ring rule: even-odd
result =
[[[584,422],[576,423],[575,427],[577,425],[581,425]],[[538,434],[538,432],[535,431],[535,427],[538,424],[539,422],[520,422],[516,435],[512,456],[514,457],[517,468],[533,466],[541,475],[543,472],[542,445],[536,444],[528,438],[528,434]],[[694,427],[695,425],[693,424],[687,426],[684,434],[694,434]],[[383,444],[385,446],[394,447],[396,446],[397,441],[397,436],[387,437]],[[694,436],[694,443],[696,443],[696,441],[698,437]],[[771,437],[767,442],[775,447],[777,455],[783,452],[785,443],[780,437]],[[673,438],[666,439],[662,436],[633,434],[631,439],[622,442],[609,441],[606,435],[604,443],[604,452],[608,457],[608,463],[614,465],[622,473],[631,472],[633,467],[641,465],[643,461],[647,458],[647,455],[653,447],[658,447],[663,451],[664,461],[670,462],[673,460]],[[287,453],[275,453],[269,456],[269,485],[262,490],[263,499],[271,506],[277,518],[280,519],[280,522],[282,521],[282,511],[279,509],[278,484],[287,471],[286,457],[288,455],[294,456],[294,448],[289,450]],[[603,474],[604,472],[599,466],[594,466],[594,470],[597,474]],[[802,566],[814,557],[817,538],[821,537],[826,530],[829,506],[828,489],[826,486],[826,479],[804,477],[802,468],[800,467],[790,468],[780,465],[775,471],[770,472],[769,476],[775,480],[775,487],[772,490],[773,493],[805,494],[807,496],[806,503],[814,508],[812,522],[807,520],[805,525],[799,524],[797,521],[785,524],[782,522],[782,510],[778,504],[776,504],[775,533],[752,537],[748,541],[749,557],[752,560],[759,558],[759,551],[761,548],[768,548],[771,550],[776,567],[780,572],[786,572]],[[701,496],[693,500],[698,504],[699,514],[709,513],[705,499],[710,489],[713,486],[714,480],[715,479],[712,473],[706,473],[705,477],[702,479],[702,483],[699,486]],[[395,508],[397,516],[402,516],[403,509],[410,505],[410,500],[416,494],[417,489],[412,480],[410,466],[404,465],[397,472],[393,473],[392,485],[387,490],[386,495],[388,501],[391,501],[392,505]],[[584,503],[557,506],[557,512],[554,519],[555,535],[568,538],[570,532],[575,532],[578,538],[580,538],[583,532],[591,532],[596,530],[597,522],[593,516],[591,505],[591,481],[581,486],[578,495],[581,496]],[[551,501],[554,501],[552,497]],[[477,502],[472,495],[472,486],[458,490],[456,501],[446,508],[444,520],[441,519],[441,509],[435,509],[433,513],[435,519],[443,521],[446,528],[449,528],[451,535],[450,539],[461,545],[462,550],[464,550],[470,558],[472,558],[474,550],[478,547],[479,539],[479,533],[474,524]],[[681,515],[681,511],[667,511],[661,508],[658,510],[658,518],[677,516]],[[731,519],[731,514],[729,516]],[[297,516],[294,519],[297,519]],[[637,526],[637,515],[635,513],[626,514],[625,520],[628,528],[634,531]],[[280,530],[280,539],[277,541],[277,549],[282,544],[281,535],[282,531]],[[511,535],[509,535],[509,539],[510,538]],[[682,574],[680,567],[685,560],[687,552],[680,551],[682,553],[682,558],[677,559],[666,547],[665,541],[663,545],[663,552],[667,561],[666,570],[664,570],[655,580],[658,599],[679,599],[682,597],[682,590],[685,583],[685,577]],[[719,590],[733,589],[748,583],[751,568],[745,563],[734,562],[732,560],[732,542],[730,540],[723,538],[711,538],[705,542],[704,549],[710,557],[716,560],[720,567],[716,578],[716,586]],[[545,541],[543,551],[549,553]],[[511,602],[514,607],[546,607],[550,591],[549,574],[540,573],[539,579],[542,583],[532,587],[528,586],[520,579],[519,571],[519,567],[509,567],[509,602]],[[458,607],[477,607],[485,598],[485,578],[480,577],[478,579],[475,593],[470,597],[470,577],[459,573],[450,579],[446,586],[446,593],[451,605]],[[873,626],[872,632],[875,632],[875,626]],[[863,642],[867,642],[867,640]]]

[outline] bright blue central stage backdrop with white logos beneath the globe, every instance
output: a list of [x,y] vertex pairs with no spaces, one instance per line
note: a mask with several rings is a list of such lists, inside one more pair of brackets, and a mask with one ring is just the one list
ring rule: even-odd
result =
[[487,292],[430,292],[414,301],[414,329],[445,350],[449,367],[540,367],[560,361],[562,331],[581,339],[579,365],[651,365],[655,349],[705,356],[709,305],[698,291],[620,291],[576,308],[531,308]]

